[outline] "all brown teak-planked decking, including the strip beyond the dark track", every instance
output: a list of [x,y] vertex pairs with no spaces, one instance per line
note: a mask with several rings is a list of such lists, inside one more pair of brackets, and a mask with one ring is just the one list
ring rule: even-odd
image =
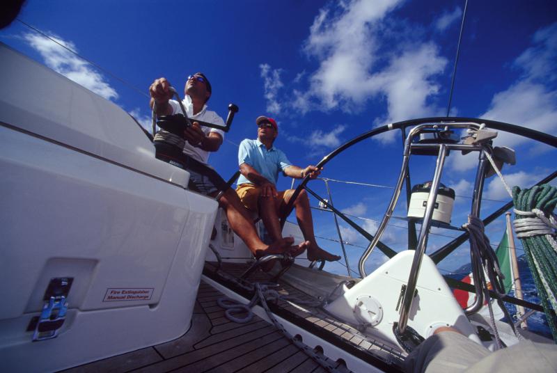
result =
[[[222,270],[229,275],[240,276],[247,265],[224,263]],[[211,264],[206,264],[206,267],[212,268]],[[250,280],[268,283],[269,276],[259,271]],[[307,294],[290,285],[281,284],[276,290],[282,295],[309,299]],[[326,372],[260,317],[254,316],[245,324],[230,322],[217,304],[221,296],[223,294],[202,281],[194,305],[192,326],[182,337],[65,372]],[[300,308],[283,300],[277,301],[276,305],[315,327],[338,335],[361,351],[379,349],[375,341],[367,340],[351,326],[338,322],[317,308],[306,305]],[[396,347],[385,346],[382,351],[389,349],[393,356],[397,356]],[[343,366],[339,366],[338,370],[350,372]]]

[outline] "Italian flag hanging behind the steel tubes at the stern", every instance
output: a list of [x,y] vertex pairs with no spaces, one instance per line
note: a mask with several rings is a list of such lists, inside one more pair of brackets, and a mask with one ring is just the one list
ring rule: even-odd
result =
[[[499,268],[501,269],[501,272],[505,276],[505,279],[503,280],[503,285],[505,286],[505,294],[508,294],[508,292],[512,288],[512,279],[515,278],[515,276],[513,276],[514,273],[512,273],[512,265],[510,263],[510,248],[509,248],[509,237],[508,237],[507,230],[505,230],[505,233],[503,234],[503,238],[501,239],[499,246],[497,246],[495,255],[497,255],[497,260],[499,261]],[[485,275],[485,277],[487,278],[487,275]],[[469,275],[464,276],[464,278],[462,278],[461,281],[463,283],[473,285],[474,279],[472,273],[469,273]],[[491,283],[487,283],[487,287],[489,287],[489,289],[492,289]],[[453,294],[455,295],[455,298],[457,299],[458,303],[462,308],[467,308],[476,299],[476,294],[466,292],[466,290],[454,289]],[[484,306],[487,306],[487,301],[485,301]],[[501,311],[501,313],[503,312]]]

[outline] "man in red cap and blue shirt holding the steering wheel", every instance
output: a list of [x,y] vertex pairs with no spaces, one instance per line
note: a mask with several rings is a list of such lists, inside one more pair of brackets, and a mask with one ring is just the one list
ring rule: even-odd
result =
[[[261,216],[271,239],[280,240],[282,239],[282,232],[278,219],[280,214],[284,212],[294,190],[276,191],[278,170],[282,170],[284,175],[296,179],[304,178],[305,175],[310,175],[311,178],[315,179],[320,174],[320,170],[315,166],[307,166],[304,169],[292,166],[290,161],[286,159],[285,154],[273,147],[278,134],[278,127],[273,118],[260,116],[256,119],[256,123],[258,125],[258,138],[256,140],[246,138],[240,143],[238,163],[242,175],[237,181],[236,192],[244,206],[253,212],[258,212]],[[309,241],[308,259],[312,261],[327,260],[329,262],[339,260],[340,256],[328,253],[317,246],[315,235],[313,235],[313,219],[306,191],[299,193],[294,206],[301,232],[304,239]]]

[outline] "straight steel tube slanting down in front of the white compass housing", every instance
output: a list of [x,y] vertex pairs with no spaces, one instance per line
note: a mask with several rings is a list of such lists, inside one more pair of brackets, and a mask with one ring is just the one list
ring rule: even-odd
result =
[[439,184],[441,182],[441,173],[443,172],[443,166],[445,164],[446,156],[446,144],[439,145],[437,165],[435,166],[435,173],[433,175],[430,193],[427,197],[427,205],[425,207],[425,214],[423,216],[423,223],[420,230],[420,238],[418,239],[418,247],[414,252],[414,259],[412,260],[412,267],[408,276],[406,292],[402,299],[402,308],[400,310],[400,317],[398,319],[398,331],[400,332],[400,334],[404,333],[406,330],[410,308],[412,306],[412,301],[414,300],[414,290],[416,289],[416,283],[418,283],[418,276],[420,274],[422,258],[427,246],[427,237],[429,236],[433,210],[435,207],[435,200],[437,200],[437,193],[439,192]]

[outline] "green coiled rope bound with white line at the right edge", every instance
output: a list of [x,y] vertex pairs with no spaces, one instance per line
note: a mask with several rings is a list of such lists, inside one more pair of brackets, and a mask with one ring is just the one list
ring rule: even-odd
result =
[[528,267],[544,308],[551,334],[557,341],[557,244],[554,209],[557,188],[542,184],[512,189],[515,232],[524,245]]

